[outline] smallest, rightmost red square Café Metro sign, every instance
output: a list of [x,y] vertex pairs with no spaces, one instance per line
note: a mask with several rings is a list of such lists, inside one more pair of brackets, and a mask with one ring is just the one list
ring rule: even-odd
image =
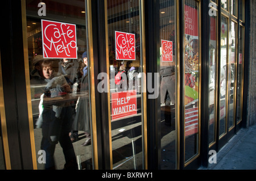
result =
[[162,62],[172,62],[172,41],[161,40]]

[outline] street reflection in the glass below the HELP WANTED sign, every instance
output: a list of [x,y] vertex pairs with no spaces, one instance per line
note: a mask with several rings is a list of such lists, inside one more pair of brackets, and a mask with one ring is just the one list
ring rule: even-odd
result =
[[112,150],[113,169],[142,169],[141,116],[112,122]]

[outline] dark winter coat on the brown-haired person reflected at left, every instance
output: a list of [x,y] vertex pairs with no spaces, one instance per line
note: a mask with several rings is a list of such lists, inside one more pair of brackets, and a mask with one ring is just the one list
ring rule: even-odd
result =
[[[47,85],[43,96],[42,133],[43,137],[51,144],[57,144],[60,135],[68,134],[72,129],[72,108],[68,103],[69,100],[64,103],[51,101],[54,101],[56,97],[69,95],[63,89],[63,85],[67,84],[67,81],[60,73],[54,73],[52,79],[45,79],[45,81]],[[49,99],[47,104],[45,99]],[[36,125],[40,127],[39,120]]]

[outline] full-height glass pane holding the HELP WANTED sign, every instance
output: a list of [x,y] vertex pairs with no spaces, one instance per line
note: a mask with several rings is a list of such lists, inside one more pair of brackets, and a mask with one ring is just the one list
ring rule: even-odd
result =
[[113,169],[143,169],[141,1],[107,1]]

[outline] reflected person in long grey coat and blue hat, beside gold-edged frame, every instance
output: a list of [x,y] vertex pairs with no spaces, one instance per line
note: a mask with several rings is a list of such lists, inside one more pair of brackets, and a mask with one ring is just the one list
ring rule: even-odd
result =
[[88,98],[88,58],[87,52],[82,54],[82,66],[81,66],[81,85],[80,96],[76,104],[76,117],[73,123],[73,131],[84,131],[86,136],[85,142],[82,146],[90,144],[90,113],[89,113],[89,98]]

